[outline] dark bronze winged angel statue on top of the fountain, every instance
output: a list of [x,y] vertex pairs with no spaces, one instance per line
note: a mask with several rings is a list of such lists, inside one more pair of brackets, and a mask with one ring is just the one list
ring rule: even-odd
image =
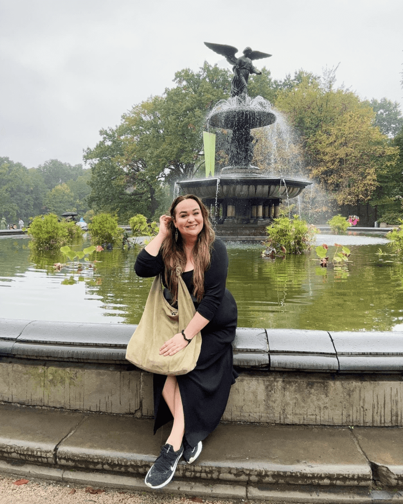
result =
[[252,51],[250,47],[245,47],[243,56],[237,58],[235,54],[238,52],[238,49],[232,45],[212,44],[210,42],[205,42],[205,44],[209,49],[225,56],[226,60],[233,65],[234,77],[231,82],[231,96],[247,95],[249,74],[261,75],[261,72],[256,70],[252,65],[252,59],[268,58],[271,56],[271,54]]

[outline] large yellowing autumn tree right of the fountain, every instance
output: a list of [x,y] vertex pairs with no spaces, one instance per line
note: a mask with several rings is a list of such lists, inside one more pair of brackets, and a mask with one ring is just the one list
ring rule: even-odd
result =
[[310,173],[339,205],[357,205],[370,200],[377,173],[394,164],[396,149],[375,127],[372,107],[333,84],[333,71],[321,82],[303,78],[276,105],[300,131]]

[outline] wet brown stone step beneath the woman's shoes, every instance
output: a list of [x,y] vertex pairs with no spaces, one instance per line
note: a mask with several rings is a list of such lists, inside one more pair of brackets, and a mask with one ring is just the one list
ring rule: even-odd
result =
[[[150,490],[152,420],[0,405],[0,471]],[[376,485],[374,486],[374,482]],[[159,492],[271,502],[403,502],[403,428],[221,424]],[[290,500],[290,499],[294,500]],[[375,500],[374,500],[375,499]]]

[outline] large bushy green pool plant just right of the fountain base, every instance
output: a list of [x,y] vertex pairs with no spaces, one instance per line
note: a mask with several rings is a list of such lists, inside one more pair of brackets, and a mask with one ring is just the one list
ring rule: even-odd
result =
[[282,246],[290,254],[301,254],[311,248],[318,230],[301,220],[298,215],[294,215],[292,219],[277,217],[271,226],[266,227],[266,232],[267,245]]

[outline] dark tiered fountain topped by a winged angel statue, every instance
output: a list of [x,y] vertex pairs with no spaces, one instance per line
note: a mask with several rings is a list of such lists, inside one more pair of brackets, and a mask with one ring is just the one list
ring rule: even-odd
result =
[[262,174],[250,164],[255,145],[251,130],[273,124],[276,115],[267,100],[247,96],[247,77],[249,73],[261,73],[253,67],[252,59],[270,54],[246,47],[244,56],[236,58],[235,47],[205,44],[234,65],[231,98],[220,101],[207,117],[208,128],[232,131],[230,166],[217,177],[178,180],[177,185],[183,194],[194,194],[211,208],[219,236],[261,236],[265,226],[279,216],[281,202],[296,198],[312,182]]

